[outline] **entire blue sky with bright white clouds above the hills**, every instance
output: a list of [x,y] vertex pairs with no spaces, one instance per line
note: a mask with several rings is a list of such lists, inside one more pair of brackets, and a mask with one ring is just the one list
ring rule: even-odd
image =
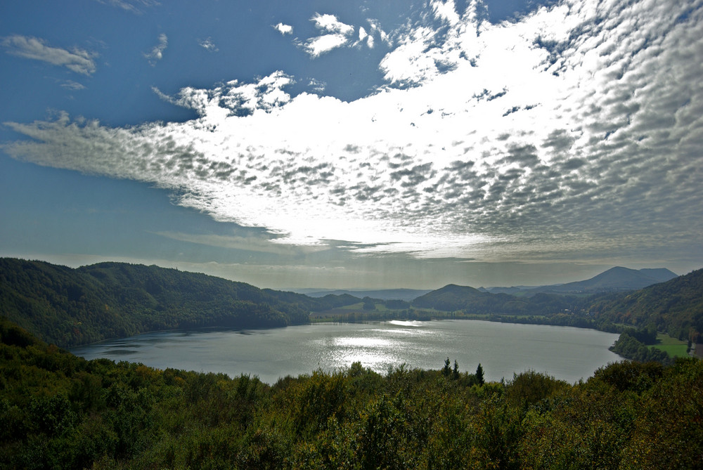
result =
[[703,266],[703,0],[0,4],[0,256],[276,289]]

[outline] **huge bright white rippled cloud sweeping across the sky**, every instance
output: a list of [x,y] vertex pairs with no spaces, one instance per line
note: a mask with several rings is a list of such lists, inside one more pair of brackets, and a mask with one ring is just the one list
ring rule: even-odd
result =
[[189,122],[8,123],[30,140],[5,150],[155,183],[277,243],[537,263],[699,244],[703,2],[563,1],[500,25],[446,8],[394,32],[387,84],[352,102],[291,96],[279,71],[162,94]]

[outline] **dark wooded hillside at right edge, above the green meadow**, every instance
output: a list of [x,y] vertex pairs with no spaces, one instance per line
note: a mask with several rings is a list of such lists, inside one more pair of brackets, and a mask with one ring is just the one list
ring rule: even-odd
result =
[[703,269],[628,294],[593,299],[593,315],[613,323],[650,323],[671,337],[700,341],[703,333]]

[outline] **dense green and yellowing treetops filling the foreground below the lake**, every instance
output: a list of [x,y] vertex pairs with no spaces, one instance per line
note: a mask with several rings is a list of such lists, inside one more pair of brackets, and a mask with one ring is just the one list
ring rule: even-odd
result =
[[[0,321],[0,468],[695,468],[703,363],[255,377],[86,361]],[[481,370],[482,374],[482,370]]]

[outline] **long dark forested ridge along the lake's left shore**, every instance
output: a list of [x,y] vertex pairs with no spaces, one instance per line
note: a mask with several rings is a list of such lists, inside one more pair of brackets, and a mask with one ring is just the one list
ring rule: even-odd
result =
[[359,299],[312,299],[157,266],[0,259],[0,315],[62,347],[188,327],[276,327]]

